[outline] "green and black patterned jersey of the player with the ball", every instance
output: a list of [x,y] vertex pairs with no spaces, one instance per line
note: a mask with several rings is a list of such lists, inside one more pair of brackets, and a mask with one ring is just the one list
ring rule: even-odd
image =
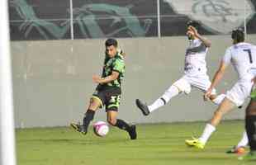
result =
[[102,78],[106,78],[107,76],[110,76],[113,71],[119,73],[118,78],[112,82],[99,84],[97,86],[97,89],[111,88],[111,87],[115,87],[115,88],[117,87],[121,89],[121,81],[124,79],[124,73],[125,73],[125,60],[124,60],[124,57],[119,52],[113,58],[108,57],[108,55],[106,54],[105,60],[104,60],[104,67],[102,70]]

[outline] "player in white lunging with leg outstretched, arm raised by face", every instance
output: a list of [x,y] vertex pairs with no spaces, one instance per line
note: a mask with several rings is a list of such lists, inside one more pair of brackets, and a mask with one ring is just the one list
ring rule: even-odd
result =
[[[202,92],[206,92],[206,90],[211,86],[211,81],[206,73],[206,53],[208,48],[211,46],[211,42],[210,40],[203,38],[197,32],[199,26],[200,24],[197,21],[187,22],[189,45],[185,54],[183,77],[168,87],[168,90],[164,92],[163,96],[154,101],[152,105],[147,106],[139,99],[136,99],[136,105],[144,115],[149,115],[149,113],[158,109],[160,106],[164,106],[172,97],[175,97],[180,93],[189,94],[192,87],[196,87]],[[219,105],[225,98],[225,95],[221,94],[216,96],[216,90],[213,89],[209,97],[211,101]]]

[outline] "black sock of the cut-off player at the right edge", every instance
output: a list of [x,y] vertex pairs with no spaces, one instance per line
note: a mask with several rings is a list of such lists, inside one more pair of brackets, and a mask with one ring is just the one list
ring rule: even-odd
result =
[[249,139],[251,151],[256,151],[256,115],[247,115],[245,117],[245,128]]

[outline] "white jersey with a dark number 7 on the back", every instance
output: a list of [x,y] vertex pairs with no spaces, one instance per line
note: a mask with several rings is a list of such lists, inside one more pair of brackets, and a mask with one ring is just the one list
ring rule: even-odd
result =
[[256,46],[245,42],[232,45],[225,51],[222,61],[233,65],[239,81],[250,81],[256,73]]

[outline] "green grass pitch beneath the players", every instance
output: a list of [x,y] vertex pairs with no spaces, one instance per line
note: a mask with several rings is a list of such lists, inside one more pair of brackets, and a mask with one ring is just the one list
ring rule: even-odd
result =
[[111,127],[107,137],[86,136],[70,128],[17,130],[18,165],[244,165],[226,149],[238,143],[244,121],[225,121],[204,150],[188,148],[185,139],[199,135],[205,122],[137,125],[138,139]]

